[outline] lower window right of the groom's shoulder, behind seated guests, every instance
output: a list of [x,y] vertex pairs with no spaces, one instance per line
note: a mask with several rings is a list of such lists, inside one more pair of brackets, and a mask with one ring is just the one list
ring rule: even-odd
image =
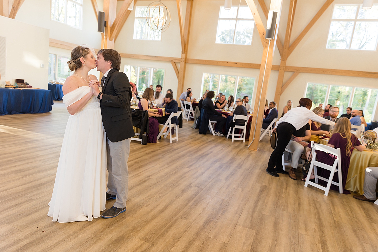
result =
[[164,87],[164,72],[162,68],[125,65],[125,74],[130,82],[136,84],[138,91],[144,91],[149,85]]

